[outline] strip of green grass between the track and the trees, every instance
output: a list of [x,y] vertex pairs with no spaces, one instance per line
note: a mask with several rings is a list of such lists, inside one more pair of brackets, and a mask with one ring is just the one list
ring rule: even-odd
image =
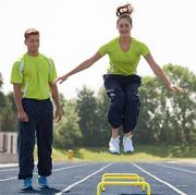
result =
[[[70,148],[74,151],[73,161],[169,161],[169,160],[195,160],[196,145],[167,146],[167,145],[137,145],[133,154],[112,155],[108,148]],[[53,148],[53,161],[68,161],[69,149]]]

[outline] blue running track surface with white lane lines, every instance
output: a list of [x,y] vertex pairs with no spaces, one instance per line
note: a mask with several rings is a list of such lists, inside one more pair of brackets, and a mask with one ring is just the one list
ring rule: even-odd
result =
[[[96,195],[96,187],[106,172],[137,173],[151,185],[151,195],[196,195],[196,163],[176,162],[65,162],[54,163],[49,178],[50,188],[38,187],[37,170],[34,191],[21,191],[17,166],[0,166],[0,195],[57,194]],[[144,195],[136,186],[106,186],[101,195]]]

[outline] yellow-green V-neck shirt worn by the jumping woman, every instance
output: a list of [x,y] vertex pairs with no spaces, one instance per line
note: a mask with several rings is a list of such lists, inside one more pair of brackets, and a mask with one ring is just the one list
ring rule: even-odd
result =
[[101,56],[109,54],[109,74],[132,75],[137,73],[140,56],[145,57],[150,51],[145,44],[135,38],[132,38],[130,49],[123,51],[118,37],[101,46],[98,52]]

